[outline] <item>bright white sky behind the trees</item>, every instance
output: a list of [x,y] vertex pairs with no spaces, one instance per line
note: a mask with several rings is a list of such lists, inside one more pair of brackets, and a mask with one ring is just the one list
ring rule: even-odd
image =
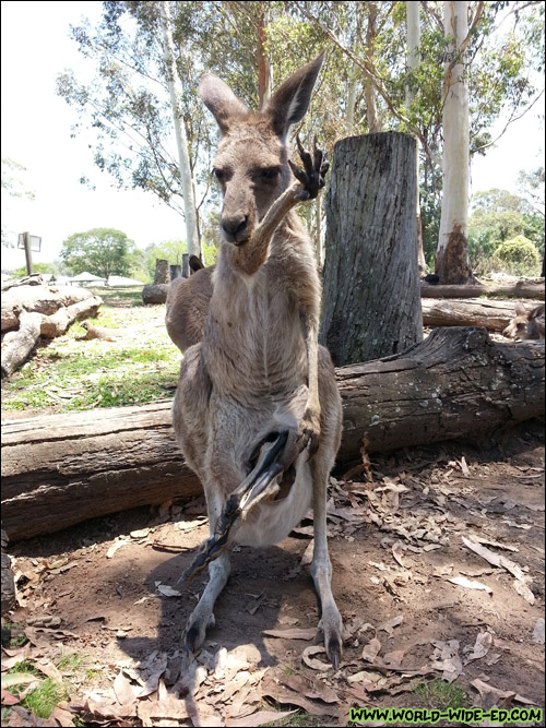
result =
[[[19,172],[34,201],[2,192],[2,225],[41,237],[34,262],[58,258],[62,241],[94,227],[122,230],[139,248],[185,237],[183,218],[152,193],[118,191],[93,163],[93,136],[70,138],[76,111],[56,95],[55,80],[70,68],[78,75],[88,64],[69,37],[69,24],[98,19],[102,2],[1,2],[1,152],[26,167]],[[472,168],[472,192],[495,187],[518,191],[520,169],[544,166],[544,97],[512,124],[497,147]],[[86,175],[96,190],[80,183]],[[23,250],[2,248],[2,270],[24,265]]]

